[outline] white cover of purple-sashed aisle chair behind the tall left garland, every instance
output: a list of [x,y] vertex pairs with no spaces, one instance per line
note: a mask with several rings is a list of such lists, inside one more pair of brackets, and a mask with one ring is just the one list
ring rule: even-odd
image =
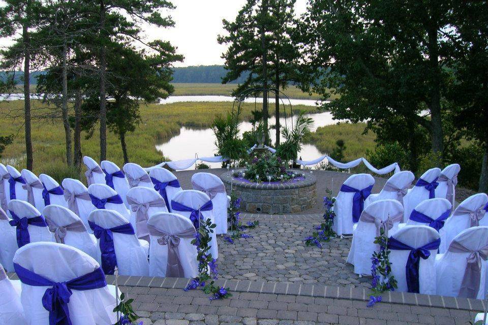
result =
[[[177,193],[174,196],[173,201],[178,202],[178,203],[185,205],[189,208],[192,208],[194,210],[198,210],[205,203],[210,201],[210,198],[207,196],[207,194],[205,194],[203,192],[196,191],[193,189],[189,189],[189,190],[182,190],[179,193]],[[180,215],[185,216],[189,219],[190,219],[190,215],[191,215],[191,212],[188,212],[188,211],[175,211],[174,213],[180,214]],[[210,219],[212,223],[215,223],[213,211],[200,211],[200,213],[201,213],[203,219],[205,219],[205,220]],[[213,233],[211,233],[209,235],[211,237],[209,252],[212,254],[212,257],[217,259],[219,257],[219,250],[217,247],[217,234],[214,231]]]

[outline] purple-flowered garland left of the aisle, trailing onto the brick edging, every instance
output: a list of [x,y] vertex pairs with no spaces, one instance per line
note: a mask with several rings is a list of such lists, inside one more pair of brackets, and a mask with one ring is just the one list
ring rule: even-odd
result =
[[196,289],[201,287],[205,294],[211,294],[210,300],[223,299],[231,297],[229,288],[218,287],[215,285],[215,281],[218,278],[219,271],[217,261],[210,250],[210,234],[214,233],[216,224],[212,223],[210,219],[204,220],[200,215],[200,225],[195,239],[192,240],[192,244],[197,246],[197,260],[198,260],[198,277],[192,279],[190,284],[184,289],[188,291],[190,289]]

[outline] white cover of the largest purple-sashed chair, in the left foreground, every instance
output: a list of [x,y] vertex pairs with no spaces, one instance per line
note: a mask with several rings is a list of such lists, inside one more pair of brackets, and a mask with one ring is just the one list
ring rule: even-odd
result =
[[[14,263],[54,282],[76,279],[100,265],[81,250],[58,243],[32,243],[20,248]],[[22,283],[21,302],[29,325],[46,325],[49,312],[42,305],[46,286]],[[91,290],[72,290],[68,303],[73,325],[110,325],[117,321],[115,300],[107,286]]]

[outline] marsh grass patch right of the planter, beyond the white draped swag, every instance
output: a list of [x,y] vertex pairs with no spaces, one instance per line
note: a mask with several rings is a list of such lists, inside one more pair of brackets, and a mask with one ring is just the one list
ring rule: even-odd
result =
[[366,150],[374,150],[376,136],[369,132],[363,135],[365,123],[340,123],[335,125],[322,126],[316,132],[310,134],[305,143],[315,145],[321,152],[330,153],[335,147],[335,142],[344,140],[344,161],[351,161],[365,155]]

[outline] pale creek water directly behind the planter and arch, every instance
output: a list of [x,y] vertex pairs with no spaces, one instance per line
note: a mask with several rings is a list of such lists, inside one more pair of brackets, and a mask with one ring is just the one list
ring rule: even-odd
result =
[[[314,126],[312,131],[316,131],[317,127],[331,125],[338,122],[332,119],[330,112],[322,112],[318,114],[308,114],[307,116],[313,118]],[[275,124],[275,119],[268,120],[269,125]],[[288,125],[291,127],[291,118],[281,118],[280,124],[282,126]],[[240,133],[251,131],[252,124],[250,122],[242,122],[240,124]],[[275,133],[271,131],[271,141],[276,140]],[[211,128],[195,129],[189,127],[181,127],[179,135],[171,138],[168,142],[156,145],[156,149],[161,151],[165,157],[171,160],[189,159],[193,158],[195,154],[199,157],[212,156],[217,153],[217,146],[215,144],[214,132]],[[320,152],[317,147],[311,144],[304,144],[298,156],[305,160],[315,159],[324,153]],[[212,168],[220,168],[220,163],[206,163]],[[192,167],[193,168],[193,167]]]

